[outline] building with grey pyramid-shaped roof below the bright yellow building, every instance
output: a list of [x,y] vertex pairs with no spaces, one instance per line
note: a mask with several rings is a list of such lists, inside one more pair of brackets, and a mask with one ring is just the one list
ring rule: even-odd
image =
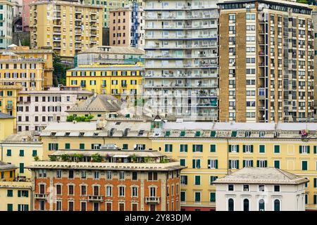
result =
[[87,98],[86,101],[81,101],[72,108],[66,110],[66,113],[76,117],[88,117],[89,115],[93,115],[94,118],[98,118],[107,113],[118,112],[120,110],[120,105],[120,100],[114,96],[95,94],[94,96]]

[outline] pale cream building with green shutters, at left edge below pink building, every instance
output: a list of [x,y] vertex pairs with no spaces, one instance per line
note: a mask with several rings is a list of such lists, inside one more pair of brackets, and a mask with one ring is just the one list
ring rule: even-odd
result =
[[41,138],[32,131],[22,131],[11,134],[0,142],[1,161],[10,162],[18,166],[16,176],[30,179],[32,172],[25,169],[35,159],[43,159],[43,148]]

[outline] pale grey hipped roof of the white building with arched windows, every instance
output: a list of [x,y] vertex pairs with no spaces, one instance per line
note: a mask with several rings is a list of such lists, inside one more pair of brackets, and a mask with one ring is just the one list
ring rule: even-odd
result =
[[273,167],[244,167],[214,184],[305,184],[308,179]]

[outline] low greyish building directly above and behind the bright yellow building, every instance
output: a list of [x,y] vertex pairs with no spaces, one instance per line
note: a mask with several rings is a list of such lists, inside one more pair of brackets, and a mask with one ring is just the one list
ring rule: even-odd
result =
[[132,47],[98,46],[77,55],[77,65],[144,63],[144,51]]

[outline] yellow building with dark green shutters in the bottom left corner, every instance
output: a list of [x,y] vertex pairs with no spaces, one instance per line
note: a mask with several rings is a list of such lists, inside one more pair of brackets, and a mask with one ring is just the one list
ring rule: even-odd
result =
[[32,210],[31,182],[15,179],[15,165],[0,162],[0,211]]

